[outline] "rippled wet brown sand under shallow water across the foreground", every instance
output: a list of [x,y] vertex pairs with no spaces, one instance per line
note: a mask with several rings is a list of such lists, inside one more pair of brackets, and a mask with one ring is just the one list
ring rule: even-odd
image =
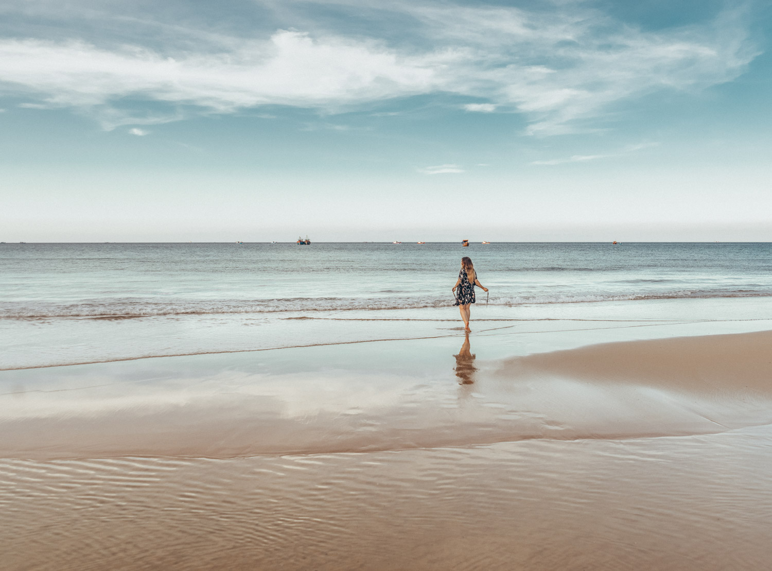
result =
[[770,444],[6,460],[3,569],[764,569]]

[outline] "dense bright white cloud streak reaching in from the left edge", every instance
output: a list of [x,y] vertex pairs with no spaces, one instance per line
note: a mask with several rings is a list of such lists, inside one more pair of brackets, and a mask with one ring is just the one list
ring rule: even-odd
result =
[[[280,30],[229,53],[177,58],[138,47],[4,40],[0,79],[52,106],[94,107],[121,97],[220,113],[265,104],[338,107],[432,90],[429,59],[411,61],[372,42],[315,40]],[[435,83],[435,82],[434,82]]]

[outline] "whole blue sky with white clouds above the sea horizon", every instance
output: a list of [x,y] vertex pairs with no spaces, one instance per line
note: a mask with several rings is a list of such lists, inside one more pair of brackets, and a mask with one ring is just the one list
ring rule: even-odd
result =
[[772,5],[4,0],[0,241],[772,241]]

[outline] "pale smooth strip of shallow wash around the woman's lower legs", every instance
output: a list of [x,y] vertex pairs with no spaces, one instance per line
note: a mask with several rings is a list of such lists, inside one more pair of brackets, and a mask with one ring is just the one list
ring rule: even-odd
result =
[[[148,317],[118,321],[0,319],[0,335],[9,340],[0,357],[0,372],[167,356],[452,337],[461,324],[456,315],[453,308],[435,308],[338,311],[323,317],[298,312],[282,318],[239,314],[227,318]],[[619,339],[753,331],[772,328],[772,298],[587,302],[552,308],[480,305],[472,310],[472,328],[478,336],[496,333],[493,330],[497,329],[507,335],[544,337],[547,333],[548,338],[557,328],[577,329],[577,325],[587,329],[638,327],[640,335],[622,335]],[[671,328],[672,333],[662,333],[660,326]],[[506,335],[496,333],[488,338],[487,345],[501,347],[505,338]],[[581,344],[615,339],[594,334]],[[507,343],[511,350],[498,351],[496,357],[521,354],[518,343]],[[536,341],[536,345],[541,344]],[[576,342],[555,342],[536,350],[574,346]]]

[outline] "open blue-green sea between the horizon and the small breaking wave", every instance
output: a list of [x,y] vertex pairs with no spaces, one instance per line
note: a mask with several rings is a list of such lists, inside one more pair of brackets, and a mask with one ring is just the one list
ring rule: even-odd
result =
[[769,243],[3,244],[0,316],[442,307],[463,255],[491,304],[772,295]]

